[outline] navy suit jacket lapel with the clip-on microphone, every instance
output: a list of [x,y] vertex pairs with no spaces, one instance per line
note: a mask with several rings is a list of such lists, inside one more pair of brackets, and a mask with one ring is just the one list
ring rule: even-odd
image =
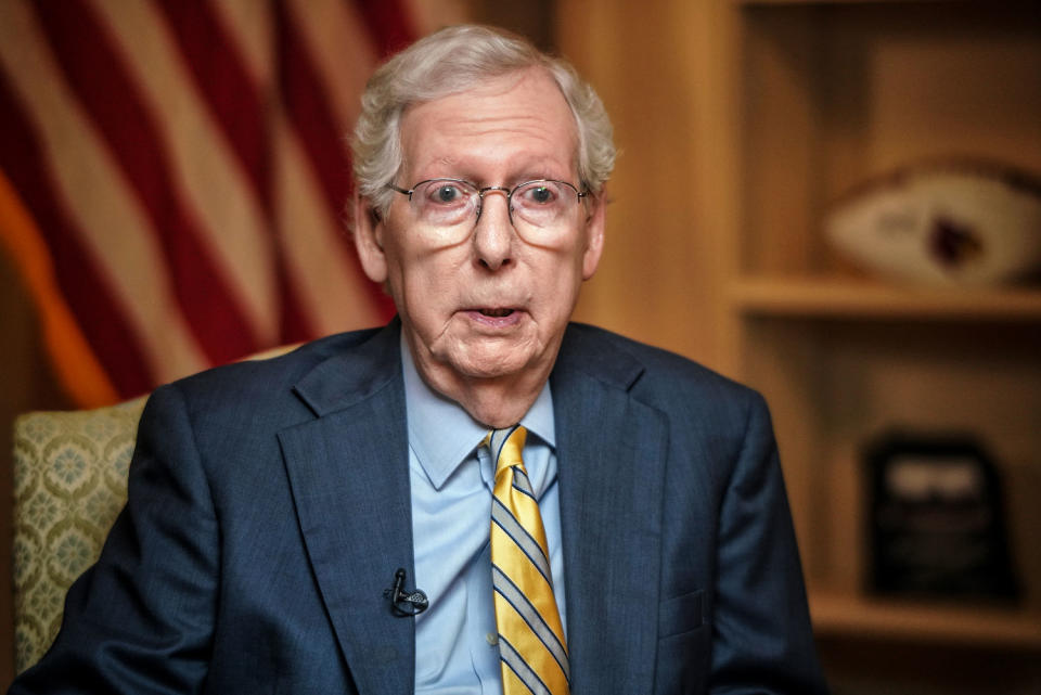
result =
[[398,567],[415,575],[397,323],[296,390],[318,417],[279,439],[336,638],[361,695],[412,692],[414,621],[383,596]]

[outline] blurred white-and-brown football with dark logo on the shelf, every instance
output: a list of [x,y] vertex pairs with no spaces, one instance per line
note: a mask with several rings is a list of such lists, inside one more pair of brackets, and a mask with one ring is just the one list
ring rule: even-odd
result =
[[886,279],[950,285],[1037,280],[1041,179],[984,162],[901,168],[836,201],[824,231],[840,255]]

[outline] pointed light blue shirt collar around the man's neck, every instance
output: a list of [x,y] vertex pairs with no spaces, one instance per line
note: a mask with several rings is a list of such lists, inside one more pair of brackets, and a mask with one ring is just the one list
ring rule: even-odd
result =
[[[488,428],[470,416],[455,401],[438,394],[420,376],[401,335],[401,368],[408,412],[409,447],[435,489],[440,489],[488,434]],[[551,448],[556,447],[553,397],[547,382],[520,424]]]

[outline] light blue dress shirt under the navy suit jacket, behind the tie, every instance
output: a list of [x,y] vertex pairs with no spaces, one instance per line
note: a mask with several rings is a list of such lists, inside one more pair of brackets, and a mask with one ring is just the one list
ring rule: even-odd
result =
[[[409,425],[415,578],[429,608],[415,618],[415,692],[501,695],[488,538],[494,462],[480,441],[488,428],[432,390],[402,337]],[[553,399],[547,384],[520,420],[528,429],[524,464],[531,479],[564,621],[564,557],[556,481]],[[564,625],[565,634],[567,625]]]

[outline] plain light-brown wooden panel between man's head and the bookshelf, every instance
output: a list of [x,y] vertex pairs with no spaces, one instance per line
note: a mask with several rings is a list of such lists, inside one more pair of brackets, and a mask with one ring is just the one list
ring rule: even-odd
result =
[[705,98],[727,89],[727,69],[706,69],[714,5],[558,0],[555,23],[561,53],[603,98],[620,151],[604,260],[577,318],[709,364],[719,361],[720,213],[729,205],[716,195],[723,186],[710,154],[728,136],[706,110],[719,100]]

